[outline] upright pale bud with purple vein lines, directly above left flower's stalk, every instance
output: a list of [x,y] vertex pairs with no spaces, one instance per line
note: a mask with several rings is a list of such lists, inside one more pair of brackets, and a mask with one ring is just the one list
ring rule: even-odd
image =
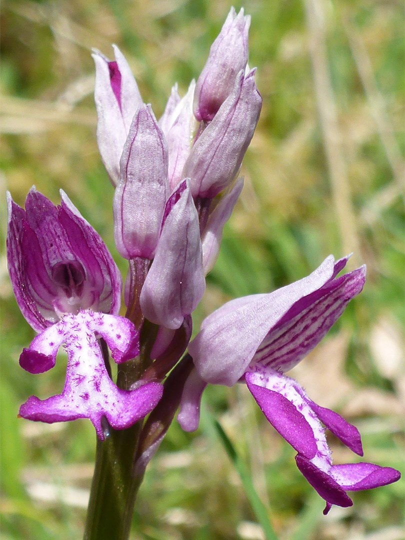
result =
[[114,194],[114,238],[125,259],[153,259],[168,197],[167,147],[150,105],[135,114]]

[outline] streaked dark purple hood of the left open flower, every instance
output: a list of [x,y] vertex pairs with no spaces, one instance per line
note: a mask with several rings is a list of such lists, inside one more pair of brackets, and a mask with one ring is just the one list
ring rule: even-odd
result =
[[117,314],[122,279],[97,232],[61,190],[55,206],[33,187],[25,211],[7,194],[7,259],[11,285],[36,332],[65,313]]

